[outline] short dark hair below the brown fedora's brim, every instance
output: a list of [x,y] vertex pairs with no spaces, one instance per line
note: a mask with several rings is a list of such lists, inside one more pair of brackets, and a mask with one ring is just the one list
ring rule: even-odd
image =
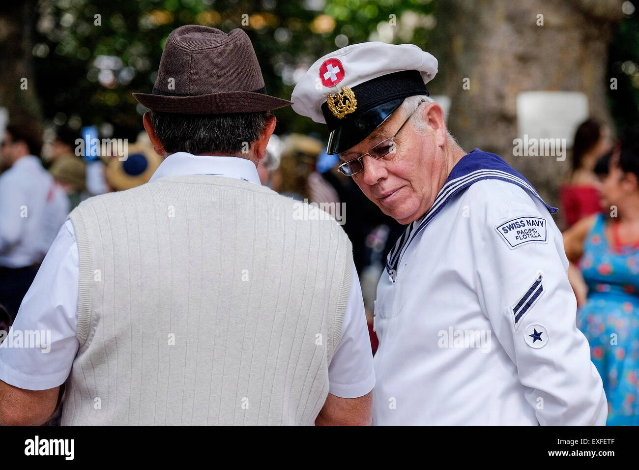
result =
[[235,154],[259,139],[270,111],[231,114],[177,114],[150,111],[155,135],[167,153]]

